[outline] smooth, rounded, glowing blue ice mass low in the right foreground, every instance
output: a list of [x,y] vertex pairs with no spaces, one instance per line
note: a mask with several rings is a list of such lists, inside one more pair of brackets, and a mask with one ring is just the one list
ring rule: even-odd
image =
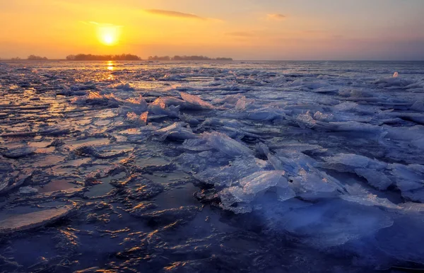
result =
[[372,236],[393,220],[378,208],[335,199],[288,211],[280,223],[305,243],[325,249]]

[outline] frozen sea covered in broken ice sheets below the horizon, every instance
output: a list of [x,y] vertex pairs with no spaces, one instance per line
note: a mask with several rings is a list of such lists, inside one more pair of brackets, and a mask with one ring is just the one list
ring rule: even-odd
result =
[[424,269],[424,62],[0,62],[0,272]]

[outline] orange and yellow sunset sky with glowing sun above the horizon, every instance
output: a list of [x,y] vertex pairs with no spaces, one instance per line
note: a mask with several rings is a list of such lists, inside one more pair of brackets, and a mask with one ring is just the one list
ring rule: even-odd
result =
[[0,0],[0,58],[424,60],[424,0]]

